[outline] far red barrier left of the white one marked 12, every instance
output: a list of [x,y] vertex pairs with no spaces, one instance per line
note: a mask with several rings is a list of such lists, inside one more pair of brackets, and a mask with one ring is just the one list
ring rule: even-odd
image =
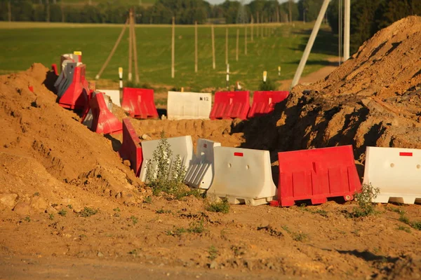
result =
[[154,90],[124,87],[121,108],[128,111],[132,118],[158,118]]

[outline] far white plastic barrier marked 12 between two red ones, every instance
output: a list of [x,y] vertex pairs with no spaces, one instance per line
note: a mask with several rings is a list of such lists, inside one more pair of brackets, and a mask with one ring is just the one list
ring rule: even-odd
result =
[[211,109],[211,93],[168,92],[168,120],[209,119]]

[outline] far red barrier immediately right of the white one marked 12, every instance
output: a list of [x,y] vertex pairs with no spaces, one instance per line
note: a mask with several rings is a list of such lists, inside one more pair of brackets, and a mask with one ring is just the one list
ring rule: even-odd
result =
[[250,109],[250,92],[216,92],[210,120],[241,118],[246,120]]

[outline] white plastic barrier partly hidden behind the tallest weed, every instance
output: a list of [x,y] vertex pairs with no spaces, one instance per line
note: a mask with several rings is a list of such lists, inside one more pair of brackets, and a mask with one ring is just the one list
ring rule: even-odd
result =
[[[153,162],[153,154],[156,148],[158,148],[159,141],[160,140],[142,141],[140,144],[142,146],[143,162],[139,178],[142,182],[145,182],[146,180],[148,162],[152,160],[152,168],[156,170],[156,165]],[[168,144],[170,144],[171,151],[173,152],[172,157],[169,159],[171,167],[173,167],[177,155],[180,155],[182,165],[184,165],[186,170],[189,169],[189,166],[194,160],[192,137],[190,135],[173,137],[168,138],[167,141]]]

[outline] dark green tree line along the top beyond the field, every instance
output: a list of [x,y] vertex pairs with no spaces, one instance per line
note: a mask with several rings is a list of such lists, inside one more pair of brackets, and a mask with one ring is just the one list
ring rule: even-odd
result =
[[[339,33],[340,0],[330,1],[326,18],[335,34]],[[343,1],[343,0],[342,0]],[[91,1],[89,1],[91,2]],[[135,6],[139,24],[259,23],[316,20],[323,0],[253,0],[210,5],[204,0],[156,0],[152,6]],[[123,23],[128,15],[124,1],[109,0],[98,5],[69,5],[65,0],[0,0],[0,21]],[[351,50],[375,32],[408,15],[421,14],[420,0],[351,0]]]

